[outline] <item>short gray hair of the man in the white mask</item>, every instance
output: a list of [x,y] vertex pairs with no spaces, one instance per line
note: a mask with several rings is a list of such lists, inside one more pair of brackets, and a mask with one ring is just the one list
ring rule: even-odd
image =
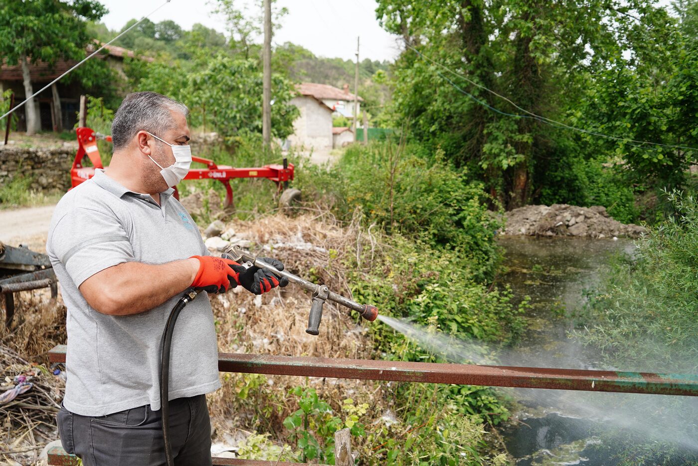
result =
[[119,105],[119,110],[112,122],[114,150],[126,147],[138,131],[149,131],[162,138],[165,132],[174,127],[172,110],[180,112],[185,117],[189,114],[189,109],[184,103],[157,92],[128,94]]

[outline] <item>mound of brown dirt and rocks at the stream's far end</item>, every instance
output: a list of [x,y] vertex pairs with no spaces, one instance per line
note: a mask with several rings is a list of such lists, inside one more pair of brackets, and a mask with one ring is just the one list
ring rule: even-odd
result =
[[622,224],[609,217],[606,207],[577,207],[567,204],[526,205],[506,215],[504,235],[577,236],[637,238],[646,230],[634,224]]

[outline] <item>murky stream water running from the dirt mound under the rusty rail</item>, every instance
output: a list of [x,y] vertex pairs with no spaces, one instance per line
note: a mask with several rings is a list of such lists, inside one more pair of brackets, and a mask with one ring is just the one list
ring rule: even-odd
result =
[[[602,368],[592,349],[567,337],[584,290],[593,286],[611,256],[632,254],[629,240],[500,238],[508,272],[500,284],[517,298],[530,296],[528,330],[506,350],[513,365]],[[603,367],[607,368],[607,367]],[[618,367],[641,370],[641,367]],[[510,390],[517,400],[503,428],[517,466],[689,464],[698,460],[695,398],[659,395]],[[632,460],[627,461],[628,456]]]

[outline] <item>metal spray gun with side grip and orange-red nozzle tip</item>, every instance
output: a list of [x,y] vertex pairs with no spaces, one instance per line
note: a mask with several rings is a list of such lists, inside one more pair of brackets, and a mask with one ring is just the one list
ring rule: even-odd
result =
[[[230,254],[230,259],[236,261],[237,263],[251,263],[255,267],[265,268],[277,277],[286,277],[288,278],[289,282],[297,284],[302,289],[313,293],[313,303],[311,304],[310,316],[308,317],[308,328],[306,329],[306,333],[309,333],[310,335],[318,335],[320,333],[318,327],[320,327],[320,320],[322,319],[322,305],[324,305],[325,301],[328,299],[330,301],[334,301],[335,303],[341,304],[344,307],[348,307],[351,310],[355,310],[367,321],[373,322],[376,320],[376,317],[378,317],[378,309],[376,306],[371,306],[369,304],[361,305],[355,301],[345,298],[344,296],[329,291],[325,285],[311,283],[302,279],[301,277],[293,275],[292,273],[286,272],[285,270],[277,270],[274,265],[261,261],[248,252],[244,252],[242,248],[237,245],[233,246],[232,248],[228,248],[227,252]],[[228,254],[223,254],[223,257],[227,256]]]

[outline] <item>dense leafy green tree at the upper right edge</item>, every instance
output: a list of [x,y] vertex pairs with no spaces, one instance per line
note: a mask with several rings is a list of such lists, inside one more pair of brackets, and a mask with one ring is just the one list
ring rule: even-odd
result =
[[[630,53],[589,75],[570,121],[636,141],[697,147],[698,49],[666,10],[646,9],[626,24]],[[597,152],[623,161],[637,183],[681,186],[695,151],[585,136]]]

